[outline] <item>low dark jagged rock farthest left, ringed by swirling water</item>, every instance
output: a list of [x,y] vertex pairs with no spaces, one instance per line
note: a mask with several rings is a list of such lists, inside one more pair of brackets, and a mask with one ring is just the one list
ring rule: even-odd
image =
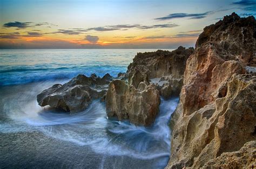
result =
[[112,77],[106,74],[103,78],[92,74],[91,77],[78,75],[64,85],[55,84],[37,95],[40,106],[49,105],[68,112],[85,110],[93,99],[102,98]]

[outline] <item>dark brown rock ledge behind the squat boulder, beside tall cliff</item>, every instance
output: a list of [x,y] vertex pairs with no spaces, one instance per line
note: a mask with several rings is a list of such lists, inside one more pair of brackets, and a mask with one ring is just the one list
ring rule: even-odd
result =
[[[156,79],[165,77],[169,85],[158,85],[157,87],[161,96],[167,99],[173,93],[179,95],[181,86],[183,85],[186,60],[193,51],[193,48],[185,49],[180,46],[171,52],[158,50],[156,52],[137,53],[133,59],[133,63],[127,69],[126,74],[129,75],[129,85],[138,87],[140,82],[159,84],[159,82],[156,82]],[[164,89],[161,89],[162,87]]]

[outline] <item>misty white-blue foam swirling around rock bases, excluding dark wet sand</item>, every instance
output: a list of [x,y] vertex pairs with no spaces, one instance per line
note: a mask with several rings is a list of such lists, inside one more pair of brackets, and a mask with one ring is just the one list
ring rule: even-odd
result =
[[[160,113],[151,127],[135,126],[128,121],[108,120],[105,104],[95,100],[80,113],[56,112],[37,105],[35,96],[48,84],[22,87],[22,95],[16,93],[4,101],[4,118],[12,123],[1,123],[0,132],[40,131],[45,136],[78,146],[89,146],[102,156],[122,156],[139,160],[159,159],[165,166],[170,156],[170,129],[167,125],[176,109],[178,98],[161,99]],[[12,89],[12,86],[9,86]],[[30,89],[30,90],[28,90]],[[6,90],[6,89],[5,89]],[[31,141],[31,140],[30,140]],[[49,150],[50,151],[50,150]],[[160,163],[159,162],[159,163]],[[102,161],[102,163],[105,163]]]

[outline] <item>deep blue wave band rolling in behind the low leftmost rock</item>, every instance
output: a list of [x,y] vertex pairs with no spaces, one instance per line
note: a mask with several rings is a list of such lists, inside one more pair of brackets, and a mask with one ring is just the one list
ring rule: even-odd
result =
[[[74,66],[76,67],[76,66]],[[5,70],[0,70],[0,86],[26,84],[33,82],[45,82],[53,80],[69,80],[76,77],[78,74],[90,76],[96,73],[97,76],[103,77],[105,72],[109,72],[111,76],[116,77],[119,72],[125,72],[124,66],[80,66],[70,69],[70,67],[56,67],[56,68],[38,68],[38,67],[13,67]]]

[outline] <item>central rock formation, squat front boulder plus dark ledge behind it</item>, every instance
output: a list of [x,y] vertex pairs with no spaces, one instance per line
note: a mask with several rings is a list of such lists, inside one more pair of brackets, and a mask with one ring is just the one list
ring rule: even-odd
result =
[[179,94],[183,84],[186,59],[193,48],[179,47],[172,52],[138,53],[128,66],[128,82],[114,80],[106,93],[109,118],[130,120],[136,125],[151,125],[159,112],[160,95],[169,98]]

